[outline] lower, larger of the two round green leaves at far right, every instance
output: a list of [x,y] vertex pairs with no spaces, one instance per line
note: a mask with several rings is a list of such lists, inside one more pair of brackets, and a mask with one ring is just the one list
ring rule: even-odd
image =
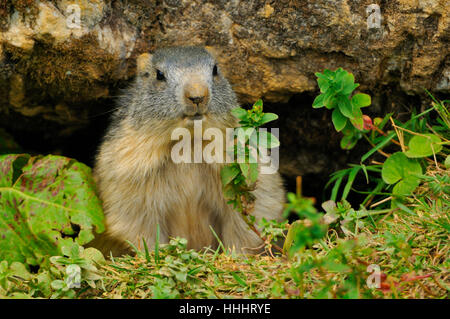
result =
[[392,154],[383,164],[381,177],[387,184],[397,183],[392,193],[394,195],[409,195],[420,184],[422,167],[402,152]]

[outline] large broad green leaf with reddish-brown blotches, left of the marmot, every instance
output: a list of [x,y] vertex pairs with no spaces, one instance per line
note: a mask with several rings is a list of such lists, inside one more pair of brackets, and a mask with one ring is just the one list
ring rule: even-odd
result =
[[[38,264],[104,231],[91,169],[62,156],[0,156],[0,259]],[[74,227],[79,228],[76,233]]]

